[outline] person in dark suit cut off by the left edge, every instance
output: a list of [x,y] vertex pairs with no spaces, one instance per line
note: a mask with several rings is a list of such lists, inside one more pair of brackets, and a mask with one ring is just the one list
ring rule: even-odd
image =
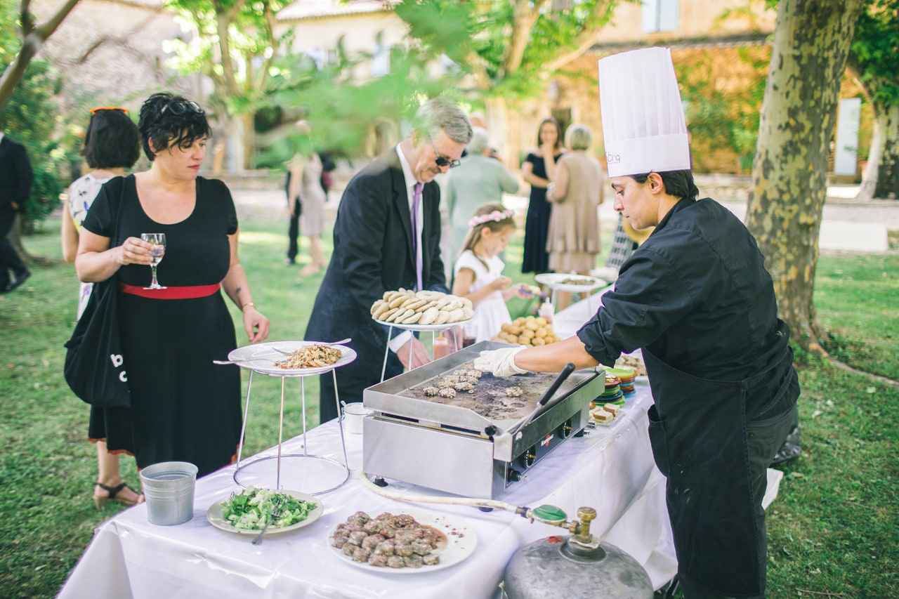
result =
[[25,210],[32,179],[25,147],[0,131],[0,293],[13,291],[31,276],[7,236],[16,212]]

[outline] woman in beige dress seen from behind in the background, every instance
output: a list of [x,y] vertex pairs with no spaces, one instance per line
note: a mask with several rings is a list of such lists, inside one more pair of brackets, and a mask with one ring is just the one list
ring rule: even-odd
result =
[[[592,134],[584,125],[565,131],[568,152],[556,165],[556,180],[549,184],[547,200],[553,210],[549,218],[547,252],[549,268],[556,273],[590,274],[600,253],[600,217],[603,174],[599,161],[587,154]],[[565,308],[571,295],[559,292],[556,309]]]

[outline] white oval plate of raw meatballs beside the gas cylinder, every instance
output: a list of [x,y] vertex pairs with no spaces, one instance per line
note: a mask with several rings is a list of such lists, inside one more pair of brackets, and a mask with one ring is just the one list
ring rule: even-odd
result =
[[356,512],[328,532],[328,545],[345,563],[369,573],[414,574],[455,566],[475,551],[477,535],[449,514]]

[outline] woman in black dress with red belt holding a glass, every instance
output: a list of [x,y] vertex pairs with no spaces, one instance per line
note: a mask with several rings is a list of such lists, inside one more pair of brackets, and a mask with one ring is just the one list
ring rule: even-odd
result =
[[[216,366],[236,347],[219,289],[244,313],[250,343],[269,321],[237,259],[237,217],[225,183],[198,175],[209,123],[197,103],[153,94],[138,122],[148,171],[103,185],[85,217],[76,257],[84,282],[115,276],[131,407],[92,408],[88,434],[133,453],[138,469],[183,460],[203,476],[233,461],[240,436],[240,373]],[[162,290],[147,290],[151,246],[165,233]],[[111,246],[111,239],[124,240]]]

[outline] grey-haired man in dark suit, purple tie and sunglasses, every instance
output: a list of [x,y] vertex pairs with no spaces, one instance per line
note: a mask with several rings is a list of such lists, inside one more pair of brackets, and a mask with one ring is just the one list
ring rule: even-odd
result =
[[[336,371],[347,403],[361,401],[362,389],[380,380],[387,327],[372,320],[371,304],[384,291],[419,288],[419,265],[420,289],[448,291],[440,250],[441,192],[433,179],[458,165],[471,123],[456,104],[434,98],[418,109],[413,125],[408,138],[347,184],[334,222],[334,253],[306,329],[309,340],[352,337],[358,357]],[[395,328],[393,334],[385,378],[430,362],[411,333]],[[321,377],[320,407],[321,422],[338,415],[331,373]]]

